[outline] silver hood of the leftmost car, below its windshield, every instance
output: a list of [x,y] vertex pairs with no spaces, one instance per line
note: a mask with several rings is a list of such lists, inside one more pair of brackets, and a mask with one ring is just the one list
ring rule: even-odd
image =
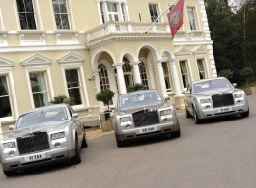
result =
[[41,132],[62,130],[66,127],[69,121],[53,121],[53,122],[44,122],[37,124],[35,126],[17,128],[14,129],[12,133],[3,138],[3,141],[9,139],[16,139],[18,137],[26,137],[32,134],[39,134]]

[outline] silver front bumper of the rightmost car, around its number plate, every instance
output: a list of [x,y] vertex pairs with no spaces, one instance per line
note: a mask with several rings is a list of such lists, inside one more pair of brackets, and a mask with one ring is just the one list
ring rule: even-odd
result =
[[[223,108],[231,108],[229,111],[225,112],[218,112],[218,109],[223,109]],[[224,117],[224,116],[231,116],[231,115],[238,115],[242,114],[244,112],[247,112],[249,110],[249,106],[245,104],[241,105],[234,105],[234,106],[224,106],[224,107],[219,107],[219,108],[213,108],[213,109],[204,109],[204,110],[197,110],[198,117],[200,119],[212,119],[212,118],[217,118],[217,117]]]

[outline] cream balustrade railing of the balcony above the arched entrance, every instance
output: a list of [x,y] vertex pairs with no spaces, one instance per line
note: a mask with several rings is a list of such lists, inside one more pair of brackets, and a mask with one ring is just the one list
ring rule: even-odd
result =
[[[99,27],[88,30],[85,32],[87,42],[97,40],[110,34],[131,34],[145,33],[152,23],[146,22],[107,22]],[[170,33],[168,23],[156,23],[148,33]]]

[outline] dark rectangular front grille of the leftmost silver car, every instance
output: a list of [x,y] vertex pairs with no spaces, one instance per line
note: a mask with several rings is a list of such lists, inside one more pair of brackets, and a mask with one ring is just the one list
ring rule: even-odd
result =
[[20,154],[33,153],[49,149],[47,133],[43,132],[25,138],[17,138],[17,146]]

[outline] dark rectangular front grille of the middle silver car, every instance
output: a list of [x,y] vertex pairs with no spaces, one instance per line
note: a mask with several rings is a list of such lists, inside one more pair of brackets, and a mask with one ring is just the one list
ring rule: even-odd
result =
[[132,114],[135,127],[146,126],[159,123],[158,112],[148,109],[141,110]]

